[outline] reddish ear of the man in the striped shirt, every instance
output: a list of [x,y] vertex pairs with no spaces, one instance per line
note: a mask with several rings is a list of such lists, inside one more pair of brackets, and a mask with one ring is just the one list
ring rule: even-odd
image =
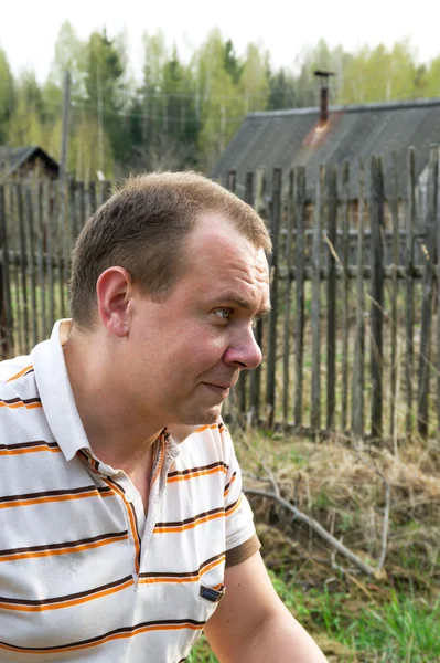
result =
[[118,337],[129,330],[128,306],[131,295],[131,277],[124,267],[109,267],[96,283],[99,317],[106,329]]

